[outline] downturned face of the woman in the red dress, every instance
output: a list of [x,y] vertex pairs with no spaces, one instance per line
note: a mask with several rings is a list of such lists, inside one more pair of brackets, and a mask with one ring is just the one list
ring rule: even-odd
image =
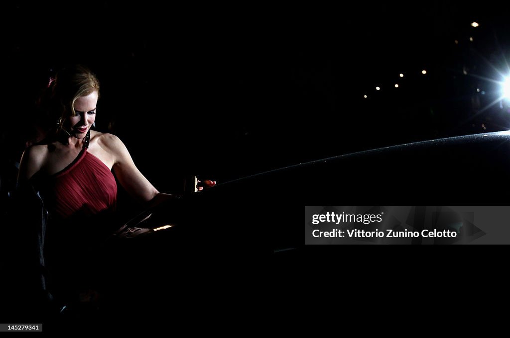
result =
[[75,116],[69,118],[70,132],[74,137],[83,138],[95,121],[97,92],[81,96],[74,101]]

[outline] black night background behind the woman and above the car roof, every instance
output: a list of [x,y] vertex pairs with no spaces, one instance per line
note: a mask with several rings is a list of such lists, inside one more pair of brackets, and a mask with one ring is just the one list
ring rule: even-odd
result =
[[488,80],[508,74],[501,5],[11,2],[2,17],[3,162],[19,160],[48,76],[72,63],[101,82],[97,129],[161,191],[510,126]]

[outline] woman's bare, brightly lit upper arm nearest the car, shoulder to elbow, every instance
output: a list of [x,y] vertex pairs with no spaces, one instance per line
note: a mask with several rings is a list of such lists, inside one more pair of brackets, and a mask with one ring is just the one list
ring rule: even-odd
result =
[[159,191],[140,173],[129,151],[115,135],[104,134],[105,143],[115,157],[113,171],[122,187],[141,202],[154,199]]

